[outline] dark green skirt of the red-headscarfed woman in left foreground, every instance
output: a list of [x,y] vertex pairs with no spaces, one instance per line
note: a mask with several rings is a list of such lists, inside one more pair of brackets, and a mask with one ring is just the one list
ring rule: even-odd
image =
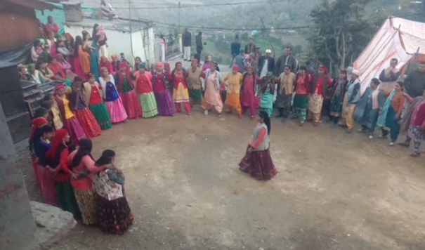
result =
[[56,181],[56,195],[58,197],[58,205],[61,209],[72,213],[75,219],[81,219],[77,199],[75,199],[74,190],[69,181]]

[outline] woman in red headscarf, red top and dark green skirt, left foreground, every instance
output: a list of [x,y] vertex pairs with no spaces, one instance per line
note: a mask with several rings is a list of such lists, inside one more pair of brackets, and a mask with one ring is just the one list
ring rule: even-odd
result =
[[74,144],[70,140],[70,133],[66,129],[59,129],[55,132],[55,136],[53,136],[51,148],[46,153],[46,157],[55,174],[55,190],[58,206],[72,213],[74,218],[80,219],[81,213],[71,186],[72,175],[68,168],[68,157],[73,150]]

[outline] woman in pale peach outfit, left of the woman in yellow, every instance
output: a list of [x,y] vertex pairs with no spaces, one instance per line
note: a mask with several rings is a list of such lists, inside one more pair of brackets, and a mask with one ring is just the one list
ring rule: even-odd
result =
[[221,117],[223,101],[220,96],[220,85],[223,84],[223,80],[216,67],[216,63],[213,62],[211,67],[205,71],[205,93],[204,98],[202,98],[201,107],[205,115],[208,115],[208,111],[214,107],[214,110],[218,113],[218,117]]

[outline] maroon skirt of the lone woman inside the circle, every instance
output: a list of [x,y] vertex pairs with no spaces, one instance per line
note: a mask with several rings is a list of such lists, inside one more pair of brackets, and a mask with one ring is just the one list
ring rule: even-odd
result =
[[277,174],[269,150],[247,152],[240,161],[240,170],[257,180],[270,180]]

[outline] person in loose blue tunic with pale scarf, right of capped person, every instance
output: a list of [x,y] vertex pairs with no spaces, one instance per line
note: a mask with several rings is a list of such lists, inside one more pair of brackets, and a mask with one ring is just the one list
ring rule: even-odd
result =
[[366,88],[365,93],[358,101],[354,119],[361,124],[359,132],[369,133],[369,139],[373,139],[375,127],[380,114],[382,114],[382,107],[384,107],[384,92],[378,89],[381,82],[379,79],[374,78],[370,81],[370,86]]

